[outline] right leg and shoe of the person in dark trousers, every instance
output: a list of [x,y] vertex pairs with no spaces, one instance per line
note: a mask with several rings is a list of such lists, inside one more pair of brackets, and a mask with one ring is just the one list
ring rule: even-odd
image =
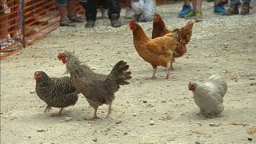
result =
[[120,0],[108,0],[109,2],[109,19],[111,26],[118,27],[121,26],[119,21],[120,12],[121,12],[121,1]]

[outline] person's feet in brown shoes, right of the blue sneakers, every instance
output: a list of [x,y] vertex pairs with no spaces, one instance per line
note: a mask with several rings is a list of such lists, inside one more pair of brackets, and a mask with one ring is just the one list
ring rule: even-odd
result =
[[[239,6],[240,0],[230,0],[230,14],[239,14],[238,6]],[[242,0],[242,6],[241,6],[241,12],[240,14],[246,15],[250,14],[250,0]]]

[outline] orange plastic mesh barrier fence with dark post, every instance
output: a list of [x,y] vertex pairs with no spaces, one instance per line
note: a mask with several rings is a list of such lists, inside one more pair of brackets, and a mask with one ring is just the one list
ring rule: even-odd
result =
[[[126,0],[122,0],[125,7]],[[162,4],[162,0],[157,0]],[[84,10],[77,1],[77,13]],[[0,60],[46,37],[59,26],[54,0],[0,1]]]

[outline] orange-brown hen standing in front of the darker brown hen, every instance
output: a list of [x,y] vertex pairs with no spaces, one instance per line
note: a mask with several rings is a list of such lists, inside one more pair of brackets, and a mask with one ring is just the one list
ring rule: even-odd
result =
[[168,79],[169,70],[173,63],[173,54],[178,43],[176,36],[168,33],[162,37],[150,39],[142,30],[142,27],[134,21],[130,21],[129,26],[130,30],[133,31],[135,49],[154,69],[151,78],[156,78],[157,66],[164,66],[166,67],[166,78]]

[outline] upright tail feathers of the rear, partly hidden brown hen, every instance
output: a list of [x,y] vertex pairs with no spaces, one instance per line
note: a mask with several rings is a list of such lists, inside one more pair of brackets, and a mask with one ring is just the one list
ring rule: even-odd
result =
[[190,38],[192,36],[192,29],[194,26],[194,22],[190,21],[186,24],[186,26],[182,27],[182,29],[179,31],[179,37],[182,38],[182,41],[187,44],[190,42]]

